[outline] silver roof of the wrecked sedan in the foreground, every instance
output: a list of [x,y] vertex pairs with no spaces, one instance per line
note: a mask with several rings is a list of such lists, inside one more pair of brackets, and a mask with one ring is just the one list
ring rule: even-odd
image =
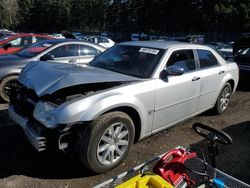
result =
[[143,47],[158,48],[158,49],[168,49],[170,47],[209,48],[199,44],[190,44],[178,41],[130,41],[130,42],[122,42],[119,43],[118,45],[143,46]]

